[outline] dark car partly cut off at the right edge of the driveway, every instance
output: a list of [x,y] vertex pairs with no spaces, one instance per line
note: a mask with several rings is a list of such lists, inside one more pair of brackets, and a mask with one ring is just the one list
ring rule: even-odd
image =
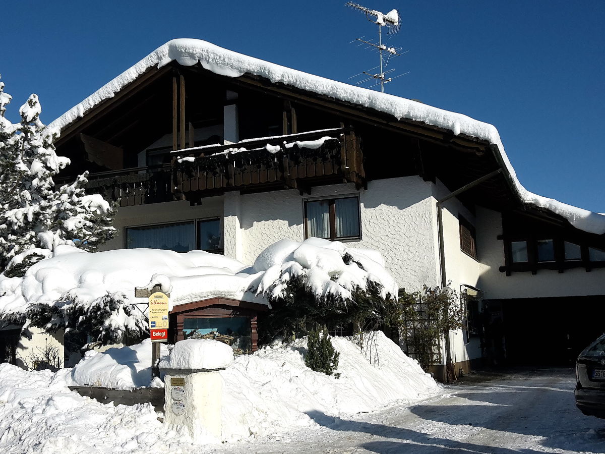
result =
[[605,418],[605,334],[575,361],[575,405],[584,415]]

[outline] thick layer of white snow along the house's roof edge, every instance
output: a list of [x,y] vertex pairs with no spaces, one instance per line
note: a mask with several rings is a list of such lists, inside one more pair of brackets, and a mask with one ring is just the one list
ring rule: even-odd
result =
[[423,122],[427,125],[450,130],[454,134],[466,134],[480,140],[486,140],[497,146],[495,153],[502,157],[505,174],[511,180],[518,196],[524,203],[549,209],[569,220],[575,228],[595,234],[605,233],[605,216],[558,202],[548,197],[538,196],[528,191],[517,179],[514,168],[506,156],[498,130],[489,123],[480,122],[463,114],[450,112],[430,105],[422,104],[391,94],[379,93],[367,88],[355,87],[325,77],[315,76],[302,71],[276,65],[252,58],[200,39],[173,39],[154,50],[137,64],[128,68],[113,81],[103,85],[85,100],[72,107],[49,126],[65,128],[103,100],[113,97],[123,87],[134,81],[151,67],[163,67],[172,61],[183,66],[192,66],[198,62],[213,73],[227,77],[239,77],[244,74],[265,77],[269,81],[281,82],[291,87],[312,93],[322,94],[376,111],[392,114],[397,119]]

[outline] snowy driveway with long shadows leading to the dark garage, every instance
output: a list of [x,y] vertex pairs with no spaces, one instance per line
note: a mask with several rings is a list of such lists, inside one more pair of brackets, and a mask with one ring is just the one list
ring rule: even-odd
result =
[[605,419],[584,416],[575,408],[574,386],[571,369],[508,373],[446,386],[444,395],[415,406],[347,421],[317,413],[316,427],[212,452],[603,453]]

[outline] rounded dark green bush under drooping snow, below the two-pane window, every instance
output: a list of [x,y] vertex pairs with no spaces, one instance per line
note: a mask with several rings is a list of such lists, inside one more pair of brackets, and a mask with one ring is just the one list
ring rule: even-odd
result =
[[319,238],[281,240],[261,252],[254,266],[267,269],[258,292],[272,306],[259,320],[261,344],[301,337],[316,326],[381,329],[396,304],[397,284],[377,251]]

